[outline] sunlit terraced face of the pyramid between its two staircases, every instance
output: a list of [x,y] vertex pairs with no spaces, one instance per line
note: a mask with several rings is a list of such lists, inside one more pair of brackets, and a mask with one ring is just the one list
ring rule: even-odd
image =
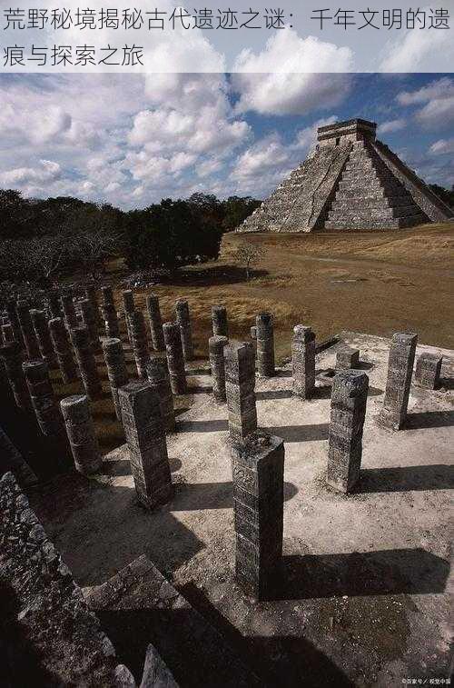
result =
[[353,144],[325,229],[410,227],[429,218],[367,141]]

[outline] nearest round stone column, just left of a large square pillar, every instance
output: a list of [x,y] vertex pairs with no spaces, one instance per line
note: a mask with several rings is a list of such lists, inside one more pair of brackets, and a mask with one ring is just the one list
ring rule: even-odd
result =
[[60,408],[76,470],[84,475],[96,473],[103,459],[94,432],[88,397],[85,394],[67,396],[60,402]]

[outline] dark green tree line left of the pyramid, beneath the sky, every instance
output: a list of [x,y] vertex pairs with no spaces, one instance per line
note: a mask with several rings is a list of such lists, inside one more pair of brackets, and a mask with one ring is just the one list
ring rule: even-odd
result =
[[126,212],[70,196],[28,199],[0,190],[0,281],[47,286],[76,270],[96,279],[115,256],[131,270],[203,263],[218,257],[222,234],[259,204],[250,196],[193,194]]

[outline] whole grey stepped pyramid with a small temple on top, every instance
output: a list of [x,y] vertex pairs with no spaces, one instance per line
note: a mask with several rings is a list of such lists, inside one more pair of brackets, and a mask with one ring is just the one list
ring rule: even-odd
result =
[[321,126],[314,153],[237,231],[374,230],[451,219],[452,208],[376,139],[376,130],[363,119]]

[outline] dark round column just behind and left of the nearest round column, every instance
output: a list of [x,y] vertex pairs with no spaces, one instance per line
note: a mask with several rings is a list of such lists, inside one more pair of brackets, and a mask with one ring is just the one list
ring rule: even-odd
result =
[[45,361],[22,364],[39,429],[46,437],[62,437],[63,423]]

